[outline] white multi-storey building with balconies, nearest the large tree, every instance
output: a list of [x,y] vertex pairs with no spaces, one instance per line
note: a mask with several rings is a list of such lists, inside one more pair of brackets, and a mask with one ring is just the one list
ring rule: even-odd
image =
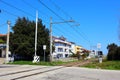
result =
[[53,36],[53,44],[55,47],[55,50],[53,52],[53,57],[66,58],[72,54],[71,51],[74,51],[72,49],[72,47],[73,47],[72,43],[66,41],[66,38],[64,38],[63,36],[61,36],[61,37]]

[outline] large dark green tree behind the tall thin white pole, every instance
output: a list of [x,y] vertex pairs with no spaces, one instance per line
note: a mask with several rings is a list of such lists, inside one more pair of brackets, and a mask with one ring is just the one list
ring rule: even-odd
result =
[[[10,51],[25,59],[32,60],[35,48],[35,22],[18,18],[10,33]],[[37,55],[43,55],[43,45],[47,45],[46,56],[49,54],[49,30],[38,20]]]

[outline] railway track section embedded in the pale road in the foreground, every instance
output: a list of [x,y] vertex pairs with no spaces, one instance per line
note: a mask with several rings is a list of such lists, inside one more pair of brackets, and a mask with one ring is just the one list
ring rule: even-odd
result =
[[35,68],[35,69],[21,70],[17,72],[1,74],[0,80],[18,80],[18,79],[22,80],[26,77],[40,75],[43,73],[55,71],[55,70],[62,69],[62,68],[64,67],[56,66],[56,67],[42,67],[42,68],[40,67],[40,68]]

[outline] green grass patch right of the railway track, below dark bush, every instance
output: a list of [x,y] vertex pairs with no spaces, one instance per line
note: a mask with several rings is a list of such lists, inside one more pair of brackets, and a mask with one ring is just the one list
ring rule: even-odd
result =
[[92,62],[92,63],[86,64],[82,67],[109,69],[109,70],[120,70],[120,61],[106,61],[105,60],[102,63]]

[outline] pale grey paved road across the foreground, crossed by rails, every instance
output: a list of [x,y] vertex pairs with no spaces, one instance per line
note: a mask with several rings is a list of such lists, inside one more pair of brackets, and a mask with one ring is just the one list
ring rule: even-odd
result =
[[63,66],[0,65],[0,80],[119,80],[120,71]]

